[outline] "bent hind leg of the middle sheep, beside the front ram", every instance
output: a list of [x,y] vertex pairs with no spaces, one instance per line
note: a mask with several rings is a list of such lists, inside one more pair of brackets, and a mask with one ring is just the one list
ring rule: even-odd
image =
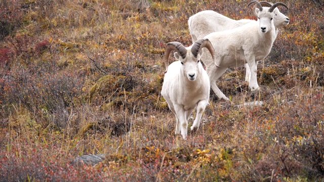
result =
[[216,96],[219,99],[224,99],[225,101],[229,101],[229,99],[222,93],[222,91],[216,85],[216,81],[225,73],[226,70],[227,68],[213,67],[207,73],[210,79],[212,90],[216,94]]

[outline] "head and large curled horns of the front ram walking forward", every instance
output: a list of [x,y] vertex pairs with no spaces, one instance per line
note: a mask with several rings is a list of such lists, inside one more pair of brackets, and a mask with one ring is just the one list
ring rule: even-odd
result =
[[181,62],[181,74],[190,81],[196,80],[197,76],[200,74],[200,68],[204,69],[199,61],[204,52],[202,50],[203,48],[207,48],[213,60],[215,60],[214,48],[207,38],[197,40],[188,48],[185,48],[180,42],[169,42],[166,46],[164,55],[167,69],[165,73],[168,71],[170,53],[171,51],[175,51],[174,57]]

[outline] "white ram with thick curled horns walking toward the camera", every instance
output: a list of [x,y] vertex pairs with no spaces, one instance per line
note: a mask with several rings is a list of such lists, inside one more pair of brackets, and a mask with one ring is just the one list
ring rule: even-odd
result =
[[[197,115],[191,130],[199,128],[210,94],[210,81],[206,70],[199,59],[207,48],[212,57],[215,51],[208,39],[199,39],[186,48],[180,42],[169,42],[165,49],[164,61],[167,68],[161,95],[167,101],[170,110],[176,115],[176,134],[187,138],[188,119],[194,108]],[[175,51],[174,57],[179,60],[169,65],[169,55]],[[169,66],[168,66],[169,65]]]

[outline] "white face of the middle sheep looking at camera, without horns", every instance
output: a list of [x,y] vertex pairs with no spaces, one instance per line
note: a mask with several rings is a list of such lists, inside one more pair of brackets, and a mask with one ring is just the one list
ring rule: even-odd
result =
[[256,13],[258,15],[258,21],[260,23],[260,31],[262,33],[267,33],[271,31],[274,28],[273,24],[273,17],[277,13],[277,9],[273,10],[273,12],[269,11],[260,11],[258,8],[256,8]]

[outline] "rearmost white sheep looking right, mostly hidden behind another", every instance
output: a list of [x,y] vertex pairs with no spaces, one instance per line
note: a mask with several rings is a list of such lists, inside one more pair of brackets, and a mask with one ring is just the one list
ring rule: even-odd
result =
[[[266,11],[271,7],[272,3],[267,2],[259,2],[263,7],[263,11]],[[276,13],[273,17],[273,24],[275,27],[275,36],[277,36],[278,29],[289,24],[289,18],[279,12],[278,8],[276,9]],[[254,11],[257,16],[256,12]],[[226,16],[223,16],[215,11],[206,10],[201,11],[199,13],[194,14],[188,20],[189,32],[192,38],[192,41],[196,41],[197,39],[203,38],[206,35],[212,32],[224,31],[232,28],[236,28],[247,23],[254,22],[254,20],[250,19],[241,19],[241,20],[233,20]],[[256,62],[256,66],[258,65],[259,60]],[[245,64],[246,67],[246,81],[250,81],[251,78],[251,70],[249,64]]]

